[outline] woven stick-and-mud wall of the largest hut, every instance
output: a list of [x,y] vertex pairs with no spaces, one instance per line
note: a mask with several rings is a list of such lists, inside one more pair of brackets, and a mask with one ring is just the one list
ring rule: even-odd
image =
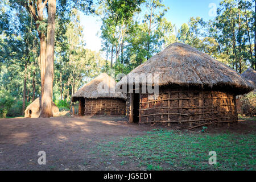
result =
[[139,123],[203,124],[236,122],[236,97],[214,91],[159,89],[159,96],[141,94]]

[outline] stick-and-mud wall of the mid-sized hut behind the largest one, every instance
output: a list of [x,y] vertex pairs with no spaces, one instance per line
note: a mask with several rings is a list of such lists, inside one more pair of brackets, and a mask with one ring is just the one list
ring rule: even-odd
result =
[[114,98],[85,100],[85,115],[125,115],[126,101]]

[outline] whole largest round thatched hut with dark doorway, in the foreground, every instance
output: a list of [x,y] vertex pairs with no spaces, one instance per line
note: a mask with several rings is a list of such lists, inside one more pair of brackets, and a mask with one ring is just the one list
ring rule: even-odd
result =
[[[174,43],[139,65],[118,82],[133,85],[133,73],[159,75],[159,96],[127,94],[129,122],[180,123],[196,127],[237,122],[236,95],[253,86],[227,65],[191,46]],[[142,79],[141,79],[142,80]],[[141,85],[146,84],[141,82]]]

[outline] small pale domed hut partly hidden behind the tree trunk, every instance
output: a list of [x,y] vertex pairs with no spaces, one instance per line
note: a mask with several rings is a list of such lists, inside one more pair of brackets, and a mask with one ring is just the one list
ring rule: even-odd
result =
[[[57,116],[59,114],[59,108],[52,102],[52,113],[53,116]],[[30,105],[27,106],[24,111],[25,118],[39,118],[41,113],[41,96],[36,98]]]

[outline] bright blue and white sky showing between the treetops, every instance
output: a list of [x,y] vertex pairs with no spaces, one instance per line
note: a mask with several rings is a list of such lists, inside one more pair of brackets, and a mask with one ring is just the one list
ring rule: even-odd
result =
[[[218,7],[220,0],[164,0],[163,3],[170,7],[165,17],[168,21],[172,22],[172,24],[176,24],[178,30],[181,24],[187,23],[192,16],[200,16],[204,20],[213,19],[214,16],[210,15],[214,12],[211,10],[214,10],[214,5]],[[209,5],[212,6],[209,7]],[[100,18],[81,15],[81,23],[84,26],[86,48],[92,49],[92,51],[100,51]]]

